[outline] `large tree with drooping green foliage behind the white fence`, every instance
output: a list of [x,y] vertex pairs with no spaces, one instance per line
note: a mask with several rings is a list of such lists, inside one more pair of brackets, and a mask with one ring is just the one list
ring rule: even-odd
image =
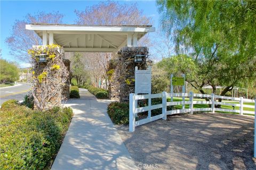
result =
[[225,95],[235,86],[253,82],[256,2],[158,1],[157,4],[163,30],[175,37],[176,53],[186,54],[166,58],[159,65],[169,71],[175,71],[170,65],[177,66],[180,72],[188,74],[191,86],[203,94],[202,87],[206,84],[214,92],[216,86],[225,86],[221,92]]

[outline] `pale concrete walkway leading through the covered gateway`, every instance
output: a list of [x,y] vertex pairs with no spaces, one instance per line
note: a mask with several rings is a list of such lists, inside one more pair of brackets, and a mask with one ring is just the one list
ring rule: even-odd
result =
[[74,117],[51,169],[137,169],[107,114],[110,100],[97,100],[86,89],[70,99]]

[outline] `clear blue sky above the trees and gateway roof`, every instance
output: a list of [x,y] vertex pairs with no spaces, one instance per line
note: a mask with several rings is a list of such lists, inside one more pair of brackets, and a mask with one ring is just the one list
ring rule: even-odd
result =
[[[16,61],[21,67],[28,66],[26,63],[17,61],[9,54],[9,48],[5,44],[6,37],[11,35],[12,26],[15,20],[25,19],[25,15],[34,14],[39,11],[59,11],[64,14],[63,23],[73,24],[76,20],[75,10],[85,10],[87,6],[98,4],[100,1],[1,1],[1,41],[2,58],[8,61]],[[119,3],[138,4],[143,14],[153,18],[153,26],[158,27],[158,12],[155,1],[118,1]]]

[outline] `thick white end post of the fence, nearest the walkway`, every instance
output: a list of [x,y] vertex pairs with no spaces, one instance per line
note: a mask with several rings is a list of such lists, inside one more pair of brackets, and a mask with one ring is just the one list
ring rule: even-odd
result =
[[135,131],[135,94],[129,95],[129,132]]

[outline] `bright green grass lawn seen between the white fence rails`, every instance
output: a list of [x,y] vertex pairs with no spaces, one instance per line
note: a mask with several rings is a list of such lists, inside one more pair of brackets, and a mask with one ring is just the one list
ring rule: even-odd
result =
[[[188,98],[185,98],[186,101],[189,101]],[[200,100],[200,101],[205,101],[204,99],[193,99],[193,100]],[[173,97],[173,101],[182,101],[182,98],[178,98],[178,97]],[[223,100],[222,100],[223,101]],[[226,101],[226,103],[234,103],[234,104],[239,104],[239,101]],[[247,108],[245,107],[245,105],[251,105],[251,106],[254,106],[254,103],[249,103],[249,102],[244,102],[244,111],[252,111],[254,112],[254,108]],[[182,105],[177,105],[177,106],[174,106],[176,109],[181,109],[182,108]],[[193,105],[194,108],[207,108],[209,107],[209,105],[207,104],[194,104]],[[185,108],[189,108],[189,105],[185,105]],[[223,109],[233,109],[232,106],[227,106],[227,105],[221,105],[221,108]],[[238,106],[235,106],[235,109],[236,110],[239,110],[239,107]],[[223,113],[223,112],[222,112]],[[226,112],[225,112],[226,113]],[[227,113],[231,113],[231,114],[238,114],[238,113],[233,113],[233,112],[227,112]]]

